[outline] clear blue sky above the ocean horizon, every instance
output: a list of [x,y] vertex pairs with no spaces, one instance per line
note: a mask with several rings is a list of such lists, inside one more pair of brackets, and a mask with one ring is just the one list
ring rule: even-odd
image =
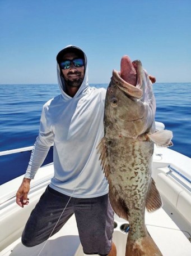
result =
[[191,0],[0,0],[0,84],[57,83],[68,44],[88,59],[89,83],[108,83],[120,59],[157,82],[191,82]]

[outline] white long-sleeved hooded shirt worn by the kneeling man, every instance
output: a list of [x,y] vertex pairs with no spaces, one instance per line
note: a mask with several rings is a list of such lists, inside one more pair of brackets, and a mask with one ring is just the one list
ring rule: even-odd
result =
[[[68,47],[81,50],[76,46]],[[39,136],[25,174],[25,178],[34,178],[53,145],[54,177],[50,187],[68,196],[80,198],[108,193],[108,181],[96,149],[104,136],[106,90],[88,85],[85,53],[84,56],[85,77],[74,97],[64,92],[64,80],[60,77],[57,65],[61,93],[43,106]]]

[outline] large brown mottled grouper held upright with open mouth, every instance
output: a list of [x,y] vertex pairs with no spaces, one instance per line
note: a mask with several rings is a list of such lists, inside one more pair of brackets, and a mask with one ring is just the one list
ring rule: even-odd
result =
[[152,155],[154,143],[171,146],[173,134],[156,131],[152,82],[155,78],[142,68],[141,61],[122,57],[121,70],[113,70],[106,92],[105,135],[97,147],[111,206],[129,221],[125,256],[162,255],[147,231],[145,209],[153,212],[162,206],[151,177]]

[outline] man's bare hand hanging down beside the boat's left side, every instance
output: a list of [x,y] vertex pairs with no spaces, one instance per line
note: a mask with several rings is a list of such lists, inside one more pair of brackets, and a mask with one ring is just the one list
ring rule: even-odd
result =
[[30,181],[30,179],[24,178],[16,194],[16,203],[22,208],[24,208],[24,205],[29,204],[27,195],[30,190]]

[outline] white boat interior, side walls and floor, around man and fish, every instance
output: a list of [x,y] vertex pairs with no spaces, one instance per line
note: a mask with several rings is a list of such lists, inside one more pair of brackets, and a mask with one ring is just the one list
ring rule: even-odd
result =
[[[177,173],[171,173],[172,165],[189,179],[190,158],[169,149],[155,148],[153,156],[153,178],[162,195],[163,208],[154,213],[146,212],[148,232],[161,250],[163,256],[191,255],[191,186]],[[26,248],[21,244],[21,232],[27,218],[39,200],[40,194],[53,176],[53,165],[40,168],[31,182],[30,204],[21,209],[15,203],[15,194],[22,176],[0,186],[0,256],[83,256],[82,246],[74,216],[57,234],[48,241]],[[115,215],[113,241],[117,255],[125,255],[127,234],[121,230],[127,223]],[[4,249],[5,248],[5,249]],[[133,255],[132,255],[133,256]],[[150,256],[150,255],[148,255]]]

